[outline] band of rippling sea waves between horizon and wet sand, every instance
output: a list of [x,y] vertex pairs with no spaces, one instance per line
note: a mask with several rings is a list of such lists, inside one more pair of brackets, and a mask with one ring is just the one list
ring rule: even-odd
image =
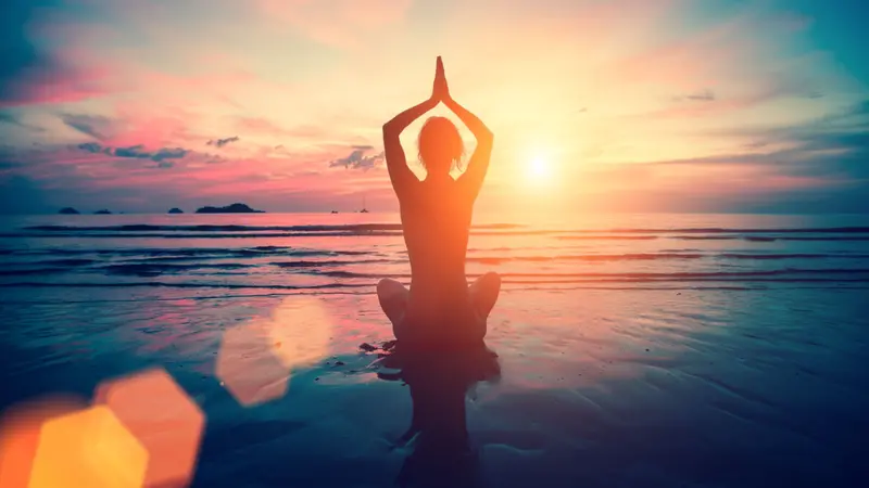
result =
[[[507,287],[865,283],[860,216],[621,216],[473,230],[470,278]],[[491,220],[491,218],[490,218]],[[49,216],[0,223],[0,285],[370,288],[406,281],[394,215]]]

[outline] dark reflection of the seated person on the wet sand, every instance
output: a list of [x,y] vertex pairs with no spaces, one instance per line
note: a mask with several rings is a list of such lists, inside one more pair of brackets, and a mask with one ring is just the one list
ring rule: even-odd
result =
[[478,459],[470,446],[465,398],[479,382],[498,382],[498,355],[480,343],[457,351],[403,351],[395,347],[382,365],[400,372],[411,389],[413,419],[401,444],[413,445],[396,480],[401,487],[479,487]]

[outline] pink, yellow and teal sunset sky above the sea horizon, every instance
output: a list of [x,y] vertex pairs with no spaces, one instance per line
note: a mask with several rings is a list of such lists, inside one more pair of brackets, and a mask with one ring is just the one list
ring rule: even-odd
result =
[[[495,133],[482,211],[869,213],[859,0],[0,10],[0,213],[351,210],[363,196],[392,210],[380,128],[430,94],[437,55]],[[529,175],[534,159],[550,178]]]

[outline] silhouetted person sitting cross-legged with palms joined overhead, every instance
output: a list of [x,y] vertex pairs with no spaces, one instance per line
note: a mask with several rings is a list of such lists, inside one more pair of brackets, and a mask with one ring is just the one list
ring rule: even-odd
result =
[[[450,175],[464,152],[456,127],[444,117],[429,118],[419,131],[420,181],[407,167],[399,137],[423,114],[443,102],[477,138],[467,169]],[[394,280],[378,283],[380,306],[392,322],[399,344],[436,346],[479,343],[498,299],[501,279],[488,273],[470,286],[465,277],[474,202],[492,153],[492,132],[450,97],[438,56],[431,98],[383,126],[389,177],[401,206],[404,242],[411,260],[411,290]]]

